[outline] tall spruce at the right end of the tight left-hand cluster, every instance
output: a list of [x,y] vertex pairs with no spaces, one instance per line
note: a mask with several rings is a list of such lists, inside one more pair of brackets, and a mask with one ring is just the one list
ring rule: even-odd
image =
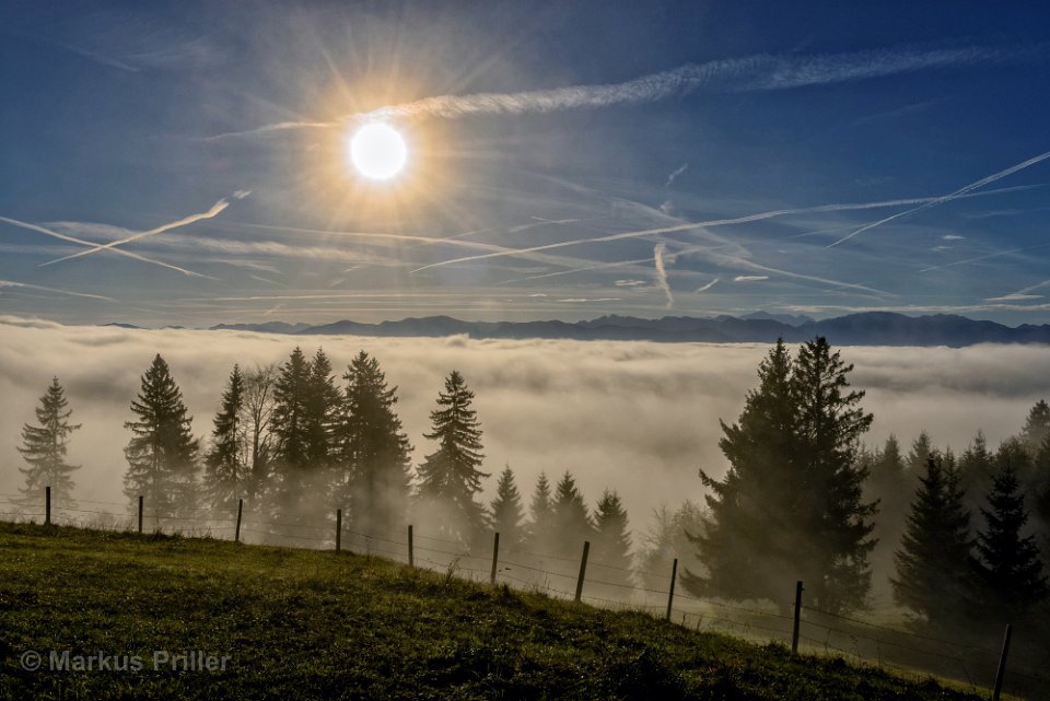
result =
[[350,505],[354,528],[368,535],[400,533],[409,491],[412,446],[394,410],[397,387],[386,386],[380,363],[361,351],[347,373],[345,413],[337,431],[336,499]]

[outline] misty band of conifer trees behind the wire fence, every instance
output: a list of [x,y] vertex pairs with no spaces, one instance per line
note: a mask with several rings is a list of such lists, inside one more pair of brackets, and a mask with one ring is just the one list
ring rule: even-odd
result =
[[[873,417],[850,386],[852,370],[824,338],[794,355],[779,341],[737,421],[722,423],[728,471],[714,479],[701,470],[702,505],[661,506],[637,544],[617,492],[590,507],[568,470],[556,483],[541,474],[526,504],[508,466],[482,503],[492,472],[474,393],[456,371],[438,393],[422,435],[429,449],[413,467],[397,387],[364,351],[341,382],[320,349],[307,358],[296,348],[280,365],[234,365],[207,440],[192,435],[158,354],[125,423],[124,487],[129,500],[144,495],[153,523],[202,504],[233,510],[238,499],[290,528],[342,509],[352,529],[376,536],[411,518],[466,545],[497,530],[503,548],[565,558],[588,539],[592,558],[610,565],[604,579],[621,585],[664,586],[681,557],[682,585],[695,595],[786,608],[801,580],[810,606],[841,614],[870,605],[874,568],[888,573],[895,603],[918,626],[1048,616],[1050,406],[1037,402],[995,451],[980,432],[959,455],[925,432],[907,454],[895,436],[871,448],[862,439]],[[67,449],[80,427],[71,416],[55,378],[37,424],[22,431],[26,503],[38,504],[45,484],[73,499],[78,468]]]

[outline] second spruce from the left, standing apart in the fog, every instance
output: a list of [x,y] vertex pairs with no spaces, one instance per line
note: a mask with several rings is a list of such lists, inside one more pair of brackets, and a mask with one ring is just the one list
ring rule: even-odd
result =
[[131,411],[136,419],[124,424],[132,433],[124,448],[124,493],[135,505],[144,496],[145,513],[159,528],[162,518],[188,514],[196,505],[199,449],[183,393],[160,354],[142,375]]

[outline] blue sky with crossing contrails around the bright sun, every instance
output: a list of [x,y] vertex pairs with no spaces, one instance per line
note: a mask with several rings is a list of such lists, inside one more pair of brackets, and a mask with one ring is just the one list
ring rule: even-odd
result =
[[1050,8],[818,4],[8,2],[0,313],[1050,322]]

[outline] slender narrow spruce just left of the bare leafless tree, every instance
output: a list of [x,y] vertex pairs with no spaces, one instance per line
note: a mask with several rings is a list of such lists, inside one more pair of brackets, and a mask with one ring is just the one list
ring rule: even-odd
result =
[[248,445],[243,413],[244,376],[240,365],[234,365],[213,420],[211,447],[205,455],[205,491],[215,509],[230,509],[245,495]]

